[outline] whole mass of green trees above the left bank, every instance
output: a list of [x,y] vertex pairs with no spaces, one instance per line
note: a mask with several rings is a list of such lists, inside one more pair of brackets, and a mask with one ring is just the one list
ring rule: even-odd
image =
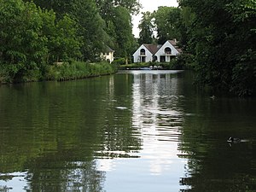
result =
[[54,62],[100,61],[108,46],[128,58],[136,46],[131,15],[140,8],[137,0],[0,4],[0,76],[4,73],[9,81],[40,75]]

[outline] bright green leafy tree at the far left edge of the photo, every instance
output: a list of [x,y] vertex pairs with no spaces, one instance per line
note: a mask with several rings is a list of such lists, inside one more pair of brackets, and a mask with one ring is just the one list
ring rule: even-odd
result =
[[0,1],[0,63],[10,80],[20,80],[29,70],[38,70],[47,55],[41,34],[42,10],[21,0]]

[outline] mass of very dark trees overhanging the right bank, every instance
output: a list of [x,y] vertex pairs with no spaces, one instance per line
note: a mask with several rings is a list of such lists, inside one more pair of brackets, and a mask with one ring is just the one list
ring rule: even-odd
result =
[[183,44],[194,55],[198,82],[239,96],[255,95],[255,1],[180,0],[179,4],[191,19],[183,17]]

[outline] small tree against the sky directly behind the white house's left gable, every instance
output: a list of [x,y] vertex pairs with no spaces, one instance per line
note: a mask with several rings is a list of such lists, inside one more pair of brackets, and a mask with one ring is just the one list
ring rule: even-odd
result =
[[150,12],[143,13],[143,19],[139,24],[139,44],[152,44],[154,40],[154,25],[152,23],[153,15]]

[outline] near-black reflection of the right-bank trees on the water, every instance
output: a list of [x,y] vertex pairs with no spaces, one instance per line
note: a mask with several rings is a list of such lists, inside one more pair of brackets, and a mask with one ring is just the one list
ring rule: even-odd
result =
[[188,160],[180,183],[189,189],[182,191],[254,191],[255,144],[230,147],[226,143],[230,133],[250,135],[246,126],[253,125],[253,114],[245,108],[250,111],[252,107],[247,102],[204,97],[185,102],[185,111],[192,115],[185,117],[179,143],[179,156]]

